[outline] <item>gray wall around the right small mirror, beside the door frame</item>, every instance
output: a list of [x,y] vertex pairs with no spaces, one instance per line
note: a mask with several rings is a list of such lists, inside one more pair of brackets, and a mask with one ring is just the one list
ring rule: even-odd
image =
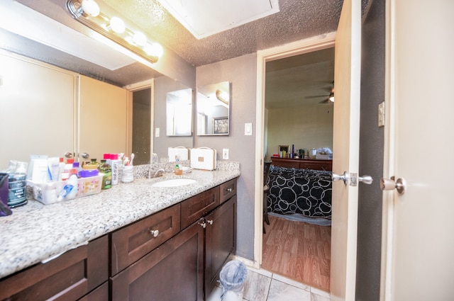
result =
[[[240,162],[238,178],[238,256],[254,257],[254,177],[255,177],[255,107],[257,55],[245,55],[196,68],[196,86],[231,83],[230,135],[194,136],[194,147],[230,150],[229,160]],[[244,124],[253,123],[253,135],[244,135]]]

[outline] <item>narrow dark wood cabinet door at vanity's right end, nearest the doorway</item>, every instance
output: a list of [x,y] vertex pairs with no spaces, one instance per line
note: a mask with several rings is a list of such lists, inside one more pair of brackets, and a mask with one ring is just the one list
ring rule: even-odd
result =
[[216,285],[224,263],[236,249],[236,195],[206,216],[205,295]]

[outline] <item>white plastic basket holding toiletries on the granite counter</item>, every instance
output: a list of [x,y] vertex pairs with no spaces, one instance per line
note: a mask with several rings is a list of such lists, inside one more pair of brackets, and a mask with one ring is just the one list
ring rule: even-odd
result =
[[[100,193],[103,176],[104,174],[99,174],[99,176],[77,178],[77,187],[70,183],[71,179],[46,183],[33,183],[29,181],[28,185],[33,188],[33,198],[48,205],[58,203],[62,200],[82,198]],[[77,188],[77,193],[74,193],[74,188]]]

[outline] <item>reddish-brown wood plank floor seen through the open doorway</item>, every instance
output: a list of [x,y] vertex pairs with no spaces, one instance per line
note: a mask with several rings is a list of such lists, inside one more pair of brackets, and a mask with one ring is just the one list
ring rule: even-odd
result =
[[329,291],[331,227],[270,216],[265,229],[263,269]]

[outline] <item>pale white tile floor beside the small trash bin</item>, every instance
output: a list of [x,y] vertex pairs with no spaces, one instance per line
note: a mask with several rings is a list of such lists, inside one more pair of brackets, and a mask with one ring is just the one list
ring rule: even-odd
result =
[[[216,286],[207,301],[220,301],[222,289]],[[247,301],[329,301],[329,294],[265,270],[248,267],[243,300]]]

